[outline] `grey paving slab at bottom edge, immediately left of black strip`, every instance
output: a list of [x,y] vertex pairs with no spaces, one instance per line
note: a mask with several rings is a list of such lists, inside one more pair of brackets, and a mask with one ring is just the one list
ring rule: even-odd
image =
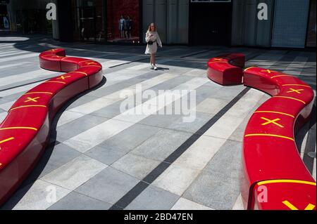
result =
[[49,210],[108,210],[111,204],[71,192],[49,207]]

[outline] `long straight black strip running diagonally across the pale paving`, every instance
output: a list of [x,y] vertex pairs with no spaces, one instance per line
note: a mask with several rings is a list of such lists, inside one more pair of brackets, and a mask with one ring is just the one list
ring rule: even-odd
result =
[[118,202],[113,204],[109,210],[123,210],[127,207],[137,196],[139,196],[151,183],[153,183],[156,178],[158,178],[161,173],[163,173],[168,166],[173,164],[181,154],[183,154],[198,138],[201,137],[208,129],[213,126],[223,115],[230,110],[230,108],[237,103],[248,91],[249,87],[244,88],[235,98],[233,98],[230,103],[225,105],[215,116],[213,116],[204,126],[202,126],[196,133],[194,133],[190,138],[188,138],[180,147],[178,147],[174,152],[172,152],[161,164],[156,166],[156,168],[151,171],[143,180],[140,180],[135,187],[133,187],[128,193],[123,195]]

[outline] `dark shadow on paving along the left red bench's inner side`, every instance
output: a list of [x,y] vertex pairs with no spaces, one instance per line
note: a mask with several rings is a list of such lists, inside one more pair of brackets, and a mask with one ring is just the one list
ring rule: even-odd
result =
[[32,185],[35,183],[35,181],[39,178],[41,175],[42,171],[44,170],[47,162],[49,162],[49,158],[51,157],[51,154],[54,150],[54,147],[59,144],[58,141],[56,141],[56,126],[58,123],[58,120],[60,119],[61,115],[67,108],[74,103],[77,99],[81,98],[83,95],[86,95],[87,93],[90,93],[92,91],[97,90],[101,86],[104,86],[106,84],[106,77],[104,77],[101,80],[101,83],[95,86],[94,88],[91,88],[83,93],[80,93],[79,95],[76,95],[74,98],[70,99],[63,107],[61,107],[61,110],[57,112],[55,115],[52,123],[51,123],[51,130],[50,130],[50,135],[49,135],[49,144],[46,146],[42,156],[40,157],[39,161],[35,165],[35,168],[32,169],[30,174],[23,180],[23,183],[18,187],[17,190],[9,197],[9,199],[2,205],[0,206],[0,210],[11,210],[14,208],[18,202],[20,202],[20,199],[24,197],[24,195],[30,190]]

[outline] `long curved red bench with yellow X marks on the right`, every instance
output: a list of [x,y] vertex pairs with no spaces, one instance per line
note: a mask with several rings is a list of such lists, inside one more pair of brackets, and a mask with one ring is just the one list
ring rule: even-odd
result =
[[313,90],[296,77],[261,67],[244,70],[244,85],[273,96],[254,112],[245,129],[244,206],[316,210],[316,181],[294,141],[294,133],[310,118]]

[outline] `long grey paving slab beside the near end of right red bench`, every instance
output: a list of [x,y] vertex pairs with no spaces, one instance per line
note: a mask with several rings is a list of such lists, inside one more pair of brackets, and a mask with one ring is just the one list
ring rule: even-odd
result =
[[232,209],[240,194],[242,143],[227,140],[184,197],[213,209]]

